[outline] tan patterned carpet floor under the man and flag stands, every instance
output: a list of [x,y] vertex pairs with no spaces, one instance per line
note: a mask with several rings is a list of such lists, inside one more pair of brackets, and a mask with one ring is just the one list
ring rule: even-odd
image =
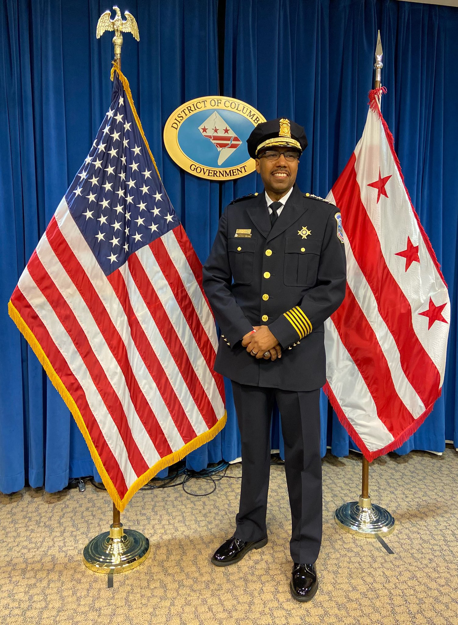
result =
[[[227,476],[240,476],[231,465]],[[210,563],[234,529],[239,479],[222,479],[207,497],[182,487],[139,492],[122,514],[144,532],[151,555],[113,576],[91,572],[82,549],[109,529],[111,500],[87,484],[49,494],[26,488],[0,495],[0,622],[2,625],[457,625],[458,454],[389,454],[372,462],[372,501],[396,518],[386,537],[342,532],[334,510],[357,499],[361,456],[323,460],[324,527],[319,592],[300,604],[289,594],[291,517],[284,467],[271,467],[269,543],[231,567]],[[211,482],[187,489],[206,492]]]

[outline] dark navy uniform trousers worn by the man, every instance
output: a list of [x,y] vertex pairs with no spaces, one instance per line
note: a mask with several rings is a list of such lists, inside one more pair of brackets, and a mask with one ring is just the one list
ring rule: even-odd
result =
[[291,506],[291,557],[294,562],[315,562],[322,527],[320,391],[282,391],[239,382],[232,382],[232,390],[242,442],[242,488],[234,535],[259,541],[267,534],[270,426],[276,400]]

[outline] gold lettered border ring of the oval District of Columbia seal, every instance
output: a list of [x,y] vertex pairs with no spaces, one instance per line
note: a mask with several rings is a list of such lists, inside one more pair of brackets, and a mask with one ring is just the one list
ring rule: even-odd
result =
[[[207,101],[207,105],[201,106],[201,108],[196,108],[196,104]],[[224,106],[223,103],[235,103],[236,106],[241,104],[242,106],[246,106],[250,109],[252,113],[255,113],[259,118],[259,121],[252,121],[248,114],[244,114],[241,111],[237,111],[234,108],[230,108],[230,106]],[[214,103],[214,104],[210,104]],[[182,114],[182,112],[186,108],[195,108],[193,111],[188,111],[188,114],[184,116],[183,119],[177,121],[177,116]],[[184,169],[188,174],[192,174],[193,176],[197,176],[197,178],[204,178],[205,180],[211,180],[213,182],[225,182],[227,180],[234,180],[237,178],[242,178],[243,176],[247,176],[247,174],[251,174],[255,169],[254,159],[249,158],[244,163],[240,163],[234,167],[226,167],[226,168],[214,168],[207,165],[202,165],[202,163],[197,163],[197,161],[193,161],[189,158],[181,149],[180,144],[178,143],[178,131],[180,129],[181,124],[195,113],[199,113],[200,111],[209,111],[209,110],[217,110],[220,111],[232,111],[233,113],[238,113],[242,117],[249,119],[253,124],[253,128],[260,124],[261,122],[266,121],[264,116],[259,113],[254,106],[242,101],[237,100],[236,98],[226,98],[226,96],[202,96],[202,98],[194,98],[193,100],[189,100],[178,108],[176,108],[173,113],[169,116],[169,119],[166,121],[166,125],[164,126],[164,145],[166,146],[166,150],[169,153],[170,158],[174,161],[179,167]],[[176,128],[174,128],[173,124],[176,124]],[[242,171],[240,171],[242,170]],[[211,172],[211,173],[210,173]],[[217,172],[219,175],[214,176],[212,173]]]

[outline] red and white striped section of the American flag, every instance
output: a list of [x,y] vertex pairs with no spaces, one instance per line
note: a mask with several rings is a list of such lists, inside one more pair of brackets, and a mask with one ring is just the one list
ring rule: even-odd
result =
[[105,276],[62,199],[11,297],[119,499],[224,416],[217,336],[182,226]]

